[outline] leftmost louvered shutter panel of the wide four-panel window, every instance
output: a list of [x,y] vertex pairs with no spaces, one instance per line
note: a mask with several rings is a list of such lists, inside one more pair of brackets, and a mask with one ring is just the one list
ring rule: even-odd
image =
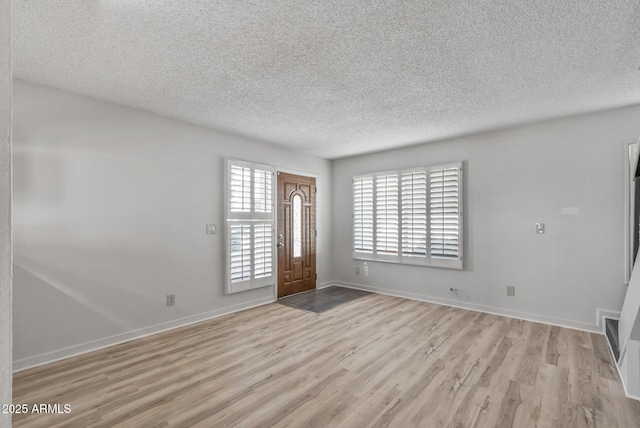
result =
[[353,251],[373,254],[373,177],[353,180]]

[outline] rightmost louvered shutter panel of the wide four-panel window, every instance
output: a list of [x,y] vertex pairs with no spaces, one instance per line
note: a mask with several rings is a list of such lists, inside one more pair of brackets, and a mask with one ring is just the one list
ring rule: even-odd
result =
[[435,166],[428,168],[428,172],[432,264],[448,266],[450,263],[447,261],[462,260],[460,233],[462,166],[461,164]]

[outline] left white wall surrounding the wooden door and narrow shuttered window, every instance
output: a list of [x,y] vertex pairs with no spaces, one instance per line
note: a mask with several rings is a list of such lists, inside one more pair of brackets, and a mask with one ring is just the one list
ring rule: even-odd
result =
[[330,161],[23,81],[14,104],[15,368],[273,300],[223,292],[227,156],[317,174],[331,279]]

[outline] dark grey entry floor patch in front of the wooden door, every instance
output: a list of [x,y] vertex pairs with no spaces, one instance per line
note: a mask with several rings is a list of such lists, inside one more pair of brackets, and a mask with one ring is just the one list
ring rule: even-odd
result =
[[354,290],[352,288],[327,287],[283,297],[278,299],[278,303],[291,308],[319,314],[368,294],[371,293],[368,291]]

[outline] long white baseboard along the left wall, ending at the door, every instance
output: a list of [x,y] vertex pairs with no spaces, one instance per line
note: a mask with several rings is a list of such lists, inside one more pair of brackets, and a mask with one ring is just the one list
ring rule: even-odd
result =
[[120,343],[129,342],[134,339],[151,336],[153,334],[162,333],[163,331],[173,330],[174,328],[184,327],[190,324],[217,318],[223,315],[232,314],[234,312],[243,311],[245,309],[255,308],[257,306],[272,303],[273,297],[265,297],[262,299],[252,300],[250,302],[229,306],[214,311],[204,312],[197,315],[191,315],[173,321],[156,324],[150,327],[138,330],[128,331],[126,333],[117,334],[103,339],[93,340],[91,342],[81,343],[79,345],[70,346],[68,348],[58,349],[32,357],[22,358],[13,361],[13,372],[17,373],[23,370],[31,369],[43,364],[53,363],[55,361],[64,360],[66,358],[75,357],[77,355],[86,354],[88,352],[97,351],[99,349],[108,348],[109,346],[118,345]]

